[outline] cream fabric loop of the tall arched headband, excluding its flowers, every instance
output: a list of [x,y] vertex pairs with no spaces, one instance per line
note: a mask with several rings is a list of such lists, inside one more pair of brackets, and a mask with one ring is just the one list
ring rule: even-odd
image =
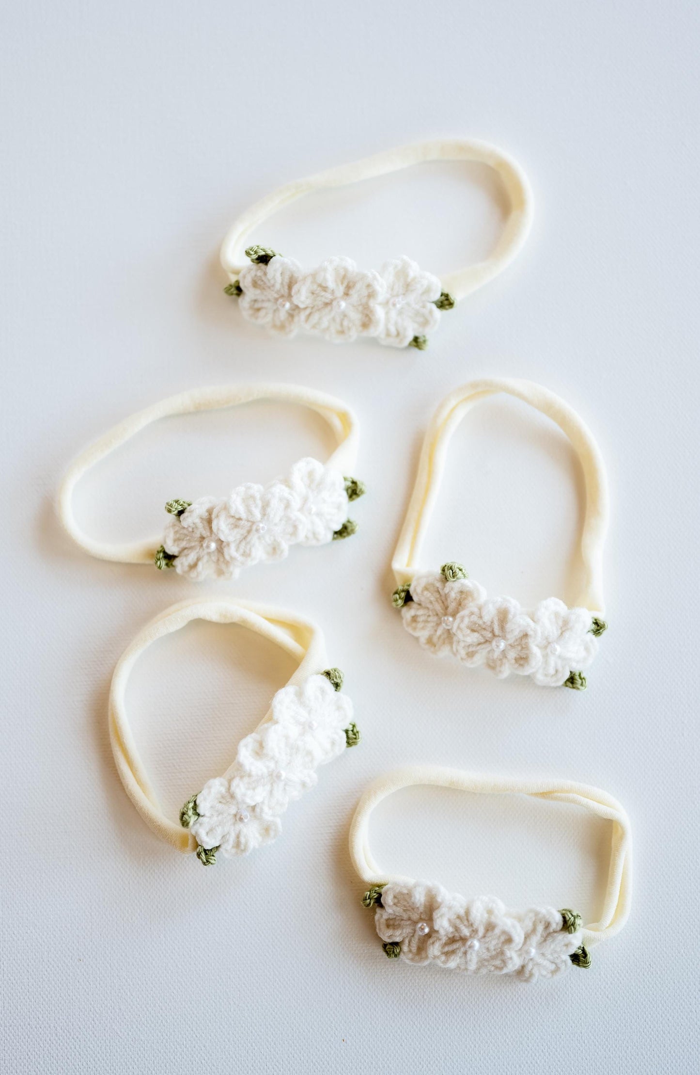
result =
[[609,499],[606,469],[588,427],[575,411],[554,392],[529,381],[488,377],[455,388],[438,406],[425,434],[408,512],[396,545],[392,568],[399,586],[420,573],[419,558],[440,488],[450,439],[462,418],[477,403],[506,392],[548,415],[569,438],[581,465],[586,489],[586,508],[581,533],[584,582],[574,602],[592,612],[604,611],[602,550],[608,530]]

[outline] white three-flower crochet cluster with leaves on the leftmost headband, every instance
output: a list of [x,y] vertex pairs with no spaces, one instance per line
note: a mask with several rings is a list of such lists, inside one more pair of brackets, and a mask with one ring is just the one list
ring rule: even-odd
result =
[[361,482],[308,458],[267,486],[237,486],[228,500],[169,501],[156,565],[174,567],[194,582],[235,578],[242,568],[283,559],[290,545],[323,545],[354,533],[348,503],[363,492]]

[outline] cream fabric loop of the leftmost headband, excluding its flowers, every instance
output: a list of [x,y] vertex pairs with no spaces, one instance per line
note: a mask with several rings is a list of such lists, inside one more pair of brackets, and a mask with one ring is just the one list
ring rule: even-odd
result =
[[120,563],[152,563],[154,556],[161,544],[161,538],[127,544],[111,544],[97,541],[83,532],[73,514],[73,491],[78,481],[111,452],[120,447],[146,426],[160,418],[194,414],[200,411],[218,411],[256,400],[295,403],[320,414],[330,426],[338,444],[326,465],[335,468],[341,473],[352,473],[358,455],[358,420],[353,412],[341,400],[313,391],[310,388],[283,384],[198,388],[193,391],[171,396],[161,400],[160,403],[155,403],[130,418],[126,418],[86,448],[72,463],[59,489],[58,514],[73,541],[86,553],[101,560],[115,560]]

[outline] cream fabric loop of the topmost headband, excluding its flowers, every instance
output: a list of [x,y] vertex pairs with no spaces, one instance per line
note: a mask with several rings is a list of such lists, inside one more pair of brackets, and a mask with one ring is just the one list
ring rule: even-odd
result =
[[411,164],[432,160],[487,164],[502,180],[510,201],[510,215],[500,239],[486,260],[440,275],[444,290],[454,299],[464,299],[510,264],[525,243],[533,220],[533,195],[520,164],[495,146],[467,139],[420,142],[415,145],[400,146],[280,187],[247,210],[231,227],[221,245],[221,264],[232,283],[235,283],[246,264],[247,238],[274,213],[304,195],[315,190],[347,186],[361,180],[385,175]]

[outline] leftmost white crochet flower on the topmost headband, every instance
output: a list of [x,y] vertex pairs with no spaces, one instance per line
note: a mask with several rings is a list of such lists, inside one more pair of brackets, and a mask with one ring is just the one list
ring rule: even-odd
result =
[[243,316],[273,332],[293,335],[300,327],[301,312],[292,295],[301,275],[302,267],[279,254],[267,264],[246,266],[238,276]]

